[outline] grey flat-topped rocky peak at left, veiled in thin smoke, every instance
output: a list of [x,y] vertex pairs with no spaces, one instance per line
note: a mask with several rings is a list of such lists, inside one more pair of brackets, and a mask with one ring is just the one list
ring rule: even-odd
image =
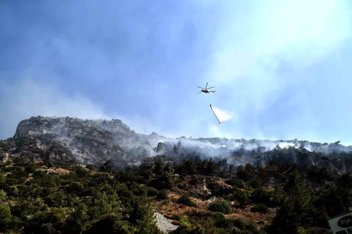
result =
[[[133,158],[126,157],[128,150],[136,149],[136,152],[143,152],[145,157],[150,156],[151,148],[145,137],[118,119],[107,121],[41,116],[21,121],[14,137],[7,142],[2,141],[2,144],[6,144],[4,151],[14,156],[81,163],[112,159],[115,163],[125,164],[133,161]],[[149,150],[144,148],[144,144]]]

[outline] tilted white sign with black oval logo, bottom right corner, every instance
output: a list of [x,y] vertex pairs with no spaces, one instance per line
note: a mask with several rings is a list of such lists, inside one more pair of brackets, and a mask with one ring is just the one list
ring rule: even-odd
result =
[[352,211],[328,219],[333,234],[352,233]]

